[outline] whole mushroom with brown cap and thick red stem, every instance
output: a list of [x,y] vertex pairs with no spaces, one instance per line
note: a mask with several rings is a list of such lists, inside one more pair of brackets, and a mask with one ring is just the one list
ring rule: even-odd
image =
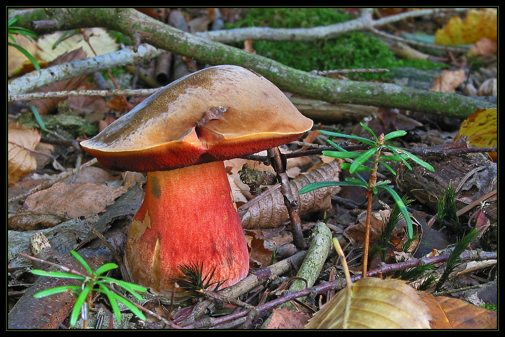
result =
[[125,248],[132,280],[167,296],[184,265],[214,272],[223,287],[245,278],[248,248],[223,160],[297,140],[312,124],[265,77],[223,65],[170,83],[81,142],[106,168],[147,173]]

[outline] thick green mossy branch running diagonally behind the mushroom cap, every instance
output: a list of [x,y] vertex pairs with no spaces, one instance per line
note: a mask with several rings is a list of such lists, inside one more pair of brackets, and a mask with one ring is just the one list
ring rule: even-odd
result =
[[[389,83],[325,78],[183,32],[130,8],[53,8],[17,11],[10,14],[12,15],[19,16],[19,26],[35,27],[32,29],[38,34],[89,27],[116,30],[131,36],[136,43],[147,43],[202,63],[234,64],[253,69],[282,90],[332,104],[398,108],[460,118],[466,118],[475,110],[492,105],[466,96],[411,89]],[[36,23],[41,20],[51,20],[51,28],[46,28],[48,25],[45,25],[45,28],[38,29]]]

